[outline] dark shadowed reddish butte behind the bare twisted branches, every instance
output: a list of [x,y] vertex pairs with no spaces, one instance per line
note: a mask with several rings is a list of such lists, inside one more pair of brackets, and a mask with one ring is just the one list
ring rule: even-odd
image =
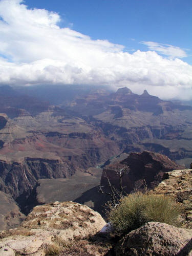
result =
[[122,185],[125,186],[127,193],[131,193],[133,190],[143,190],[145,188],[144,184],[147,185],[146,188],[148,189],[154,188],[161,182],[165,172],[184,168],[158,153],[149,151],[131,153],[123,161],[107,165],[103,169],[101,185],[108,187],[109,184],[106,178],[108,177],[112,186],[119,189],[119,176],[115,170],[124,166],[127,166],[127,171],[122,178]]

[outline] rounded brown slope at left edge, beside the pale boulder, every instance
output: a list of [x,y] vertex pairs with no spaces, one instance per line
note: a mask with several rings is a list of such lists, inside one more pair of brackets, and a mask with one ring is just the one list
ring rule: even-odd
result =
[[0,205],[0,230],[18,226],[26,218],[11,196],[2,191],[0,191]]

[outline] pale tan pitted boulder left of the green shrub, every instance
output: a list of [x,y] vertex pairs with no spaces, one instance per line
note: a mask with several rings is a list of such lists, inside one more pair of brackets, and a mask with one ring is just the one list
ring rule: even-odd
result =
[[55,202],[36,206],[22,223],[24,228],[56,230],[63,240],[84,238],[98,232],[105,225],[98,212],[74,202]]

